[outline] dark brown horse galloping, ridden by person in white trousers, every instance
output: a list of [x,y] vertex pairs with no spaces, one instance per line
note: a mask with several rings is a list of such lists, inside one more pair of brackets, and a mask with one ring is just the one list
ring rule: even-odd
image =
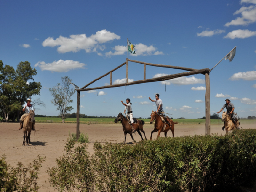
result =
[[[135,118],[133,118],[133,119],[135,119]],[[132,140],[133,140],[134,142],[136,142],[136,141],[133,139],[133,137],[132,137],[132,131],[133,131],[133,130],[132,130],[131,124],[128,122],[128,119],[122,115],[121,112],[117,115],[117,117],[116,117],[116,119],[115,119],[115,123],[117,123],[118,121],[121,121],[121,123],[122,123],[122,125],[123,125],[124,143],[125,143],[125,141],[126,141],[126,135],[127,135],[127,133],[129,133],[129,134],[131,135]],[[144,130],[143,130],[143,125],[144,125],[144,124],[145,124],[144,121],[137,119],[137,123],[134,122],[134,130],[139,133],[139,135],[140,135],[140,137],[141,137],[142,140],[144,140],[144,139],[143,139],[143,137],[142,137],[140,131],[143,132],[143,133],[144,133],[144,136],[145,136],[145,140],[147,140],[147,137],[146,137],[145,132],[144,132]]]

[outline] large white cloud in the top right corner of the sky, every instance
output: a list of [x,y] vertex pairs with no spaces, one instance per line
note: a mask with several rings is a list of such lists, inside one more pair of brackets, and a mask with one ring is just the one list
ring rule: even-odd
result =
[[[255,0],[242,0],[242,3],[255,3]],[[235,20],[232,20],[225,24],[226,27],[229,27],[230,25],[249,25],[251,23],[254,23],[256,21],[256,6],[251,5],[249,7],[241,7],[239,10],[234,12],[233,15],[241,14],[241,17],[237,17]]]

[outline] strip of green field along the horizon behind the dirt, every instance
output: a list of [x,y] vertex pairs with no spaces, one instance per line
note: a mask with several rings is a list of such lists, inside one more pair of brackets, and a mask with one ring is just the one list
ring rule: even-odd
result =
[[[62,119],[58,117],[35,117],[37,123],[61,123]],[[115,119],[109,118],[80,118],[81,124],[113,124]],[[150,119],[141,119],[145,123],[149,123]],[[205,119],[172,119],[174,122],[179,124],[205,124]],[[211,124],[222,124],[221,119],[211,119]],[[76,123],[76,118],[67,118],[65,123]],[[255,120],[252,119],[241,119],[242,124],[255,124]]]

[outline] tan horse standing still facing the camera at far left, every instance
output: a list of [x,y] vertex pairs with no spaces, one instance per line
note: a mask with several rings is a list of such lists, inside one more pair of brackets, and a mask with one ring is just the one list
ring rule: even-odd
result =
[[31,130],[32,130],[32,126],[33,126],[33,121],[35,120],[34,119],[34,116],[35,116],[35,109],[34,110],[29,110],[29,114],[28,116],[25,117],[24,119],[24,122],[23,122],[23,145],[22,146],[25,146],[25,138],[26,138],[26,143],[27,143],[27,146],[29,146],[29,144],[31,144],[30,142],[30,133],[31,133]]

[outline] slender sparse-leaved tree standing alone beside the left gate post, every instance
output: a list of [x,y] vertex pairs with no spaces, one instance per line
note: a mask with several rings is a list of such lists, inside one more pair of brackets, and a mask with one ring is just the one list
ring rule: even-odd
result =
[[51,101],[53,105],[57,106],[57,110],[60,111],[60,116],[62,119],[62,123],[65,123],[66,114],[68,111],[73,109],[72,106],[68,106],[69,103],[72,103],[73,100],[70,98],[76,92],[73,87],[70,88],[71,79],[68,76],[61,77],[62,85],[58,83],[53,88],[50,88],[49,91],[53,96],[53,100]]

